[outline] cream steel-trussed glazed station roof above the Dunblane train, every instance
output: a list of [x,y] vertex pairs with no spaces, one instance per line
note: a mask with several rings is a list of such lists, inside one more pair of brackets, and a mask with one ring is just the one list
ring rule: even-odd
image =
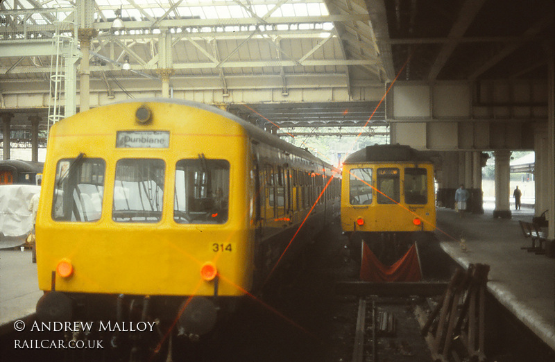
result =
[[[75,37],[77,27],[94,28],[92,82],[103,80],[133,95],[171,69],[172,89],[217,89],[224,102],[233,89],[271,87],[280,98],[271,106],[254,112],[263,102],[244,98],[229,102],[230,111],[243,118],[267,111],[262,117],[293,127],[341,126],[345,100],[352,112],[344,126],[360,126],[377,101],[350,94],[352,87],[370,85],[382,92],[386,81],[364,0],[88,2],[87,8],[87,1],[1,1],[0,46]],[[43,80],[51,62],[51,56],[0,55],[0,82]],[[321,87],[345,95],[307,96]],[[293,89],[303,95],[293,96]],[[297,112],[307,107],[313,112]],[[383,107],[374,119],[384,120]]]

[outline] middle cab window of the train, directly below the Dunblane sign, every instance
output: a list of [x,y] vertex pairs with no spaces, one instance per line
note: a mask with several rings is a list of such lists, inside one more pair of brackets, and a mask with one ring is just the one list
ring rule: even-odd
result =
[[162,160],[119,160],[114,180],[112,219],[120,223],[160,221],[165,169]]

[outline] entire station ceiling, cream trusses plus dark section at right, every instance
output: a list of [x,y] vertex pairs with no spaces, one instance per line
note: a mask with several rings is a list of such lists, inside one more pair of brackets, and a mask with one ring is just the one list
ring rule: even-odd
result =
[[160,96],[169,70],[172,95],[223,104],[253,123],[387,130],[384,94],[398,80],[547,82],[554,3],[2,0],[0,112],[14,114],[12,130],[29,129],[33,116],[46,128],[51,108],[56,56],[25,54],[56,35],[79,51],[78,28],[94,29],[97,105]]

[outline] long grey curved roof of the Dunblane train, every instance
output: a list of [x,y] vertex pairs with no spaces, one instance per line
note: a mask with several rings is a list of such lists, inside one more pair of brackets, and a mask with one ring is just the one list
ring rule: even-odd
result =
[[119,104],[119,103],[173,103],[178,105],[187,105],[189,107],[196,107],[200,110],[206,110],[207,112],[212,112],[215,114],[220,114],[221,116],[231,119],[234,122],[237,122],[241,125],[241,127],[246,130],[248,135],[252,137],[255,141],[259,141],[264,144],[268,144],[270,146],[275,146],[276,148],[280,148],[287,153],[292,155],[296,155],[299,157],[304,157],[305,159],[311,160],[313,162],[323,163],[325,166],[335,169],[334,166],[320,160],[318,157],[310,153],[308,150],[302,149],[298,146],[294,146],[287,141],[280,139],[277,136],[271,135],[270,133],[258,128],[257,126],[253,125],[241,119],[230,112],[226,112],[225,110],[221,110],[218,107],[213,105],[207,105],[205,103],[198,103],[194,101],[185,101],[185,100],[178,100],[173,98],[140,98],[140,99],[133,99],[128,101],[122,101],[112,104]]

